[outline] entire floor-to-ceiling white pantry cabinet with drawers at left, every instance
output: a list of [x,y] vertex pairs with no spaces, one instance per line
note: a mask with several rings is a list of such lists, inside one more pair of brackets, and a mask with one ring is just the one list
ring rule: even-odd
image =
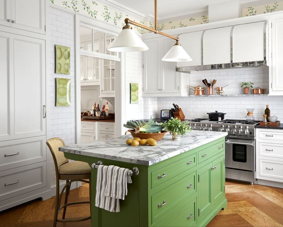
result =
[[46,6],[0,0],[0,211],[50,194]]

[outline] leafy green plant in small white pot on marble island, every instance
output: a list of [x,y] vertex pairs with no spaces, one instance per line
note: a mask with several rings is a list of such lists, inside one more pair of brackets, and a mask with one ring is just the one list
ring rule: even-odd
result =
[[178,118],[173,118],[162,124],[164,129],[172,135],[172,140],[180,140],[181,136],[184,136],[186,133],[192,130],[190,125],[187,125],[187,121],[185,123],[181,123],[181,120]]

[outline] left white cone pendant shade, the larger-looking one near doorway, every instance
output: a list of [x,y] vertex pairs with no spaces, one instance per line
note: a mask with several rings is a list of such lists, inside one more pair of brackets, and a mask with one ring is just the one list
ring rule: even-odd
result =
[[148,47],[132,29],[123,29],[107,50],[112,52],[134,52],[148,50]]

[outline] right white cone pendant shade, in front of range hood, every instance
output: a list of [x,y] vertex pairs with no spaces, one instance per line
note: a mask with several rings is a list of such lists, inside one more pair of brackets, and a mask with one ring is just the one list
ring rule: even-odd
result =
[[192,59],[181,45],[175,44],[162,58],[162,61],[179,62],[179,61],[192,61]]

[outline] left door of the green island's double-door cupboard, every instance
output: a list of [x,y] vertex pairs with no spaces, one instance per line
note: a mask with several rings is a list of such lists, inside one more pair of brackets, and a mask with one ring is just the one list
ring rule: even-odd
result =
[[212,162],[202,167],[198,171],[198,216],[202,218],[205,213],[212,207],[212,179],[211,169]]

